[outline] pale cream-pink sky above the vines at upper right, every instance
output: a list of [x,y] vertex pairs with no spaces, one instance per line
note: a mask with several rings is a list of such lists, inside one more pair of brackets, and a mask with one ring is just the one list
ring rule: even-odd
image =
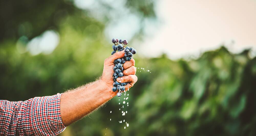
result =
[[234,53],[253,47],[255,56],[255,0],[159,0],[156,12],[163,25],[138,47],[144,55],[198,56],[225,43]]

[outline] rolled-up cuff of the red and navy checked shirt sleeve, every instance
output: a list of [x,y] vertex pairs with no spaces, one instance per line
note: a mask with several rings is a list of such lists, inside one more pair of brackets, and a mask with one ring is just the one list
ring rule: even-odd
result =
[[30,121],[35,135],[58,135],[65,130],[60,115],[60,96],[58,93],[33,99]]

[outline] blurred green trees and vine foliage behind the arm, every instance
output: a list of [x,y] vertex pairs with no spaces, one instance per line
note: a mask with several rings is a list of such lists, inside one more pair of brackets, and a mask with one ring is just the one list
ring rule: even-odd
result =
[[[72,1],[0,5],[0,99],[54,95],[101,75],[112,46],[104,38],[103,22]],[[155,16],[152,1],[127,5],[142,18]],[[60,38],[54,52],[27,52],[27,42],[49,29]],[[132,42],[129,46],[136,48]],[[255,135],[256,58],[249,51],[232,54],[221,47],[176,61],[165,54],[144,58],[138,52],[138,82],[129,91],[129,107],[122,109],[128,113],[119,111],[124,96],[120,101],[115,97],[60,135]],[[130,124],[126,129],[119,123],[123,119]]]

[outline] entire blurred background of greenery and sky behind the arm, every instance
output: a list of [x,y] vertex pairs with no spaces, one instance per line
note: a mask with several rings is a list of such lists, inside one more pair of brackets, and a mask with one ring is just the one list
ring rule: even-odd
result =
[[127,39],[138,68],[121,109],[127,114],[119,111],[124,95],[115,97],[61,136],[256,135],[255,7],[255,0],[1,1],[0,99],[92,82],[111,39]]

